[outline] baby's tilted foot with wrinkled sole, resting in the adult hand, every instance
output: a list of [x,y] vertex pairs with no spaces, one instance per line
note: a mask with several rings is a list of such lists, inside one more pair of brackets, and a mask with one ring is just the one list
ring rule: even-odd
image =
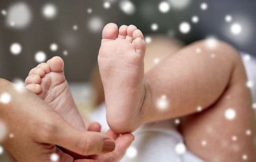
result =
[[41,97],[74,128],[85,131],[84,121],[74,103],[63,67],[64,62],[60,57],[40,63],[30,70],[25,80],[26,88]]

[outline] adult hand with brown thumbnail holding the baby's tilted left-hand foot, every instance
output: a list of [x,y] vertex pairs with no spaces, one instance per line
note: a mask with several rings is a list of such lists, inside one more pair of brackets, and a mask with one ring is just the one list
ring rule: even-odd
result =
[[52,155],[57,155],[61,162],[74,161],[55,145],[80,155],[99,155],[115,148],[111,137],[76,130],[35,94],[25,88],[16,90],[7,80],[0,79],[0,97],[1,122],[7,128],[6,135],[14,135],[13,138],[6,136],[1,143],[17,161],[51,161]]

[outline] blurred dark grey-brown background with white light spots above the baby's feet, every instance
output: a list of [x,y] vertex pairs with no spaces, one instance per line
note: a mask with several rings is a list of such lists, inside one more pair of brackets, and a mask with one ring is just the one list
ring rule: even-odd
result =
[[154,34],[184,44],[217,38],[249,59],[256,56],[255,6],[255,0],[1,0],[0,78],[22,84],[34,66],[59,55],[76,103],[90,101],[87,83],[109,22],[134,24],[147,43]]

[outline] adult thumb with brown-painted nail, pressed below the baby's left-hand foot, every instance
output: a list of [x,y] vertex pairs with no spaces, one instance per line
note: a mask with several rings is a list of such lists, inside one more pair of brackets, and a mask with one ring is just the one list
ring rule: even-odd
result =
[[[62,118],[55,120],[54,131],[50,141],[80,155],[99,155],[109,153],[116,147],[110,136],[100,132],[81,132],[73,128]],[[49,141],[45,141],[49,143]]]

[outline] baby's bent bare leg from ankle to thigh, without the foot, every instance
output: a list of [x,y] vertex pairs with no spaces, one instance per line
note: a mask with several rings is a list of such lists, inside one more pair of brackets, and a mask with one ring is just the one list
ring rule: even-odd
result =
[[[225,43],[207,43],[185,47],[146,74],[150,95],[141,109],[148,121],[187,115],[180,128],[186,146],[205,161],[256,161],[255,113],[240,56]],[[157,104],[163,95],[164,109]]]

